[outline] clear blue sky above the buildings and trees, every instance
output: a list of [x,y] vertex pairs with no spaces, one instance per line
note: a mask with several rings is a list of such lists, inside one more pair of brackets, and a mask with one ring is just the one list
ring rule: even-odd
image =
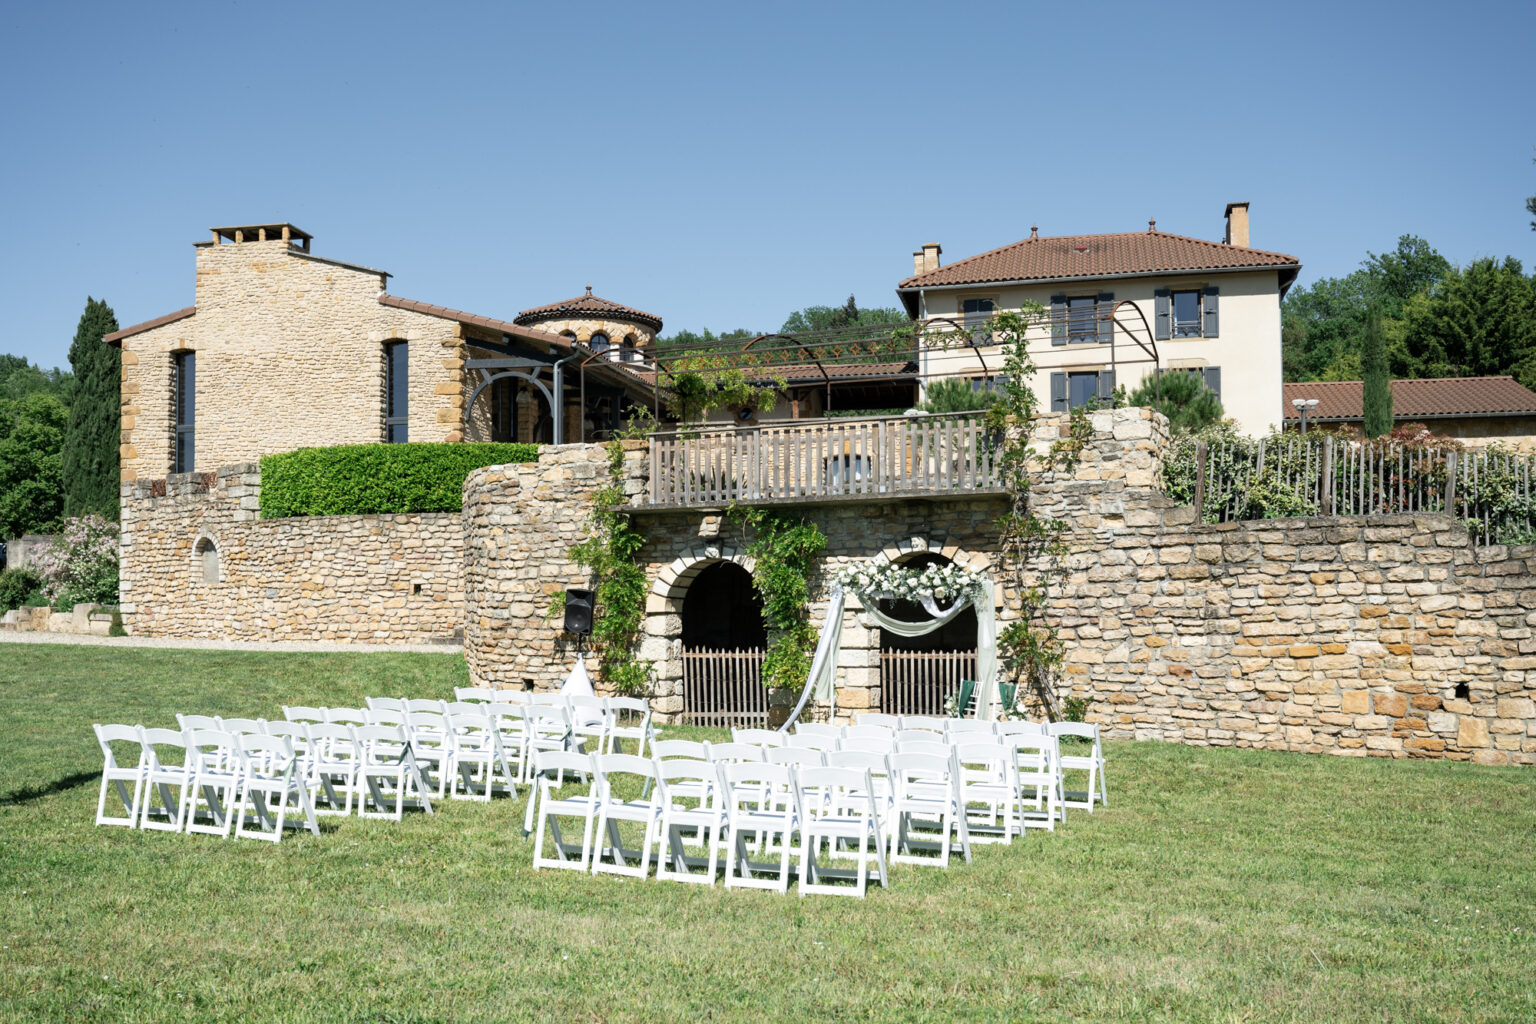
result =
[[0,352],[88,295],[192,302],[214,224],[293,221],[488,316],[682,327],[894,306],[1043,235],[1220,238],[1347,273],[1399,233],[1536,264],[1536,5],[8,3]]

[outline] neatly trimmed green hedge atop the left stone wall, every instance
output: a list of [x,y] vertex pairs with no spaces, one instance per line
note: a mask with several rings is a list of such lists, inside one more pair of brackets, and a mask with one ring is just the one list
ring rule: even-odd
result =
[[459,511],[472,471],[538,457],[531,444],[370,444],[269,454],[261,459],[261,517]]

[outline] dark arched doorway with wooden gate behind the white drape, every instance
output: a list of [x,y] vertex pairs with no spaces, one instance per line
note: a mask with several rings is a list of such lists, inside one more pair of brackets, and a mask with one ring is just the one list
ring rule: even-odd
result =
[[[949,565],[938,554],[914,554],[903,568]],[[909,600],[880,602],[880,609],[902,622],[922,622],[928,614]],[[960,682],[975,679],[975,609],[955,616],[942,629],[920,637],[880,631],[880,703],[886,714],[937,715]]]

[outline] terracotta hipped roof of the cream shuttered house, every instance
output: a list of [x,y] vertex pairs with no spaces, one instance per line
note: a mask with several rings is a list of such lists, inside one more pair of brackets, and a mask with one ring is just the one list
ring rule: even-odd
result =
[[1296,270],[1301,261],[1278,252],[1186,238],[1158,230],[1124,235],[1026,238],[948,267],[906,278],[897,290],[997,281],[1055,281],[1183,270]]

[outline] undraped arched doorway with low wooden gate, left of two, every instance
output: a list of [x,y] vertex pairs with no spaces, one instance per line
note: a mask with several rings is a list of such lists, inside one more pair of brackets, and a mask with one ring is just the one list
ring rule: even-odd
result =
[[682,715],[691,725],[763,728],[766,628],[751,573],[716,562],[682,600]]

